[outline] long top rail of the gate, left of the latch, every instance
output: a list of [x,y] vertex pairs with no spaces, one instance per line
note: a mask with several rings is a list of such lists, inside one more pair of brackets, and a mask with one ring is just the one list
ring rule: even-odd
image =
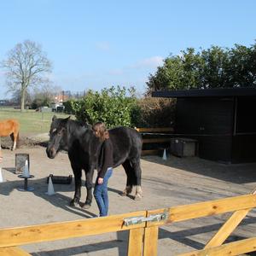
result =
[[55,241],[71,237],[90,236],[144,227],[145,223],[131,226],[124,225],[124,218],[137,216],[146,217],[146,211],[128,212],[101,218],[0,229],[0,247],[11,247],[40,241]]

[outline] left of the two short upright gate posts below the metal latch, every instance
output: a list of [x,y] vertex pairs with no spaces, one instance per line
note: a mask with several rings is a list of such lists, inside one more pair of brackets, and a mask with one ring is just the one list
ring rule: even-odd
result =
[[143,255],[143,235],[143,228],[130,230],[127,256]]

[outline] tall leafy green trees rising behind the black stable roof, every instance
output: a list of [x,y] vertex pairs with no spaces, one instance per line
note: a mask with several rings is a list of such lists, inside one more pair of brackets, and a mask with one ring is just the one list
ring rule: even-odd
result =
[[147,85],[148,95],[153,90],[255,86],[256,44],[183,50],[181,55],[167,57],[156,73],[149,74]]

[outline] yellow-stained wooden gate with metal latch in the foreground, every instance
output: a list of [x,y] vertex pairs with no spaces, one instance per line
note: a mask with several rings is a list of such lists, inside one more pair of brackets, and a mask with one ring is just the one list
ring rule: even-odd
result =
[[159,227],[192,218],[234,212],[203,250],[183,253],[196,255],[238,255],[256,251],[256,237],[224,244],[247,212],[256,207],[256,195],[241,195],[191,205],[129,212],[103,218],[89,218],[51,224],[0,229],[0,255],[29,255],[17,246],[41,241],[55,241],[122,230],[129,231],[128,256],[157,255]]

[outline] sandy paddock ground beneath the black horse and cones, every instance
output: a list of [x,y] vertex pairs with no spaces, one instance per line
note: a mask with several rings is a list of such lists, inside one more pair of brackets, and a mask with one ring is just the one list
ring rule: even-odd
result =
[[[15,152],[3,148],[2,174],[0,183],[0,227],[45,224],[55,221],[90,218],[98,214],[96,202],[88,210],[68,206],[73,198],[74,183],[55,184],[55,195],[45,195],[50,173],[68,176],[72,173],[66,153],[50,160],[45,148],[37,143],[21,145]],[[15,154],[30,156],[30,172],[34,178],[28,181],[32,192],[20,192],[24,182],[15,170]],[[109,214],[135,212],[139,210],[173,207],[198,201],[211,201],[228,196],[244,195],[256,188],[256,164],[226,166],[196,157],[177,158],[158,156],[142,159],[143,199],[133,201],[122,197],[125,188],[125,172],[118,167],[109,180]],[[83,176],[84,181],[84,176]],[[82,189],[82,201],[85,200]],[[256,212],[252,211],[243,220],[229,241],[252,237],[256,231]],[[158,255],[176,255],[200,249],[220,228],[230,213],[217,217],[199,218],[160,227]],[[125,255],[128,232],[109,233],[101,236],[52,241],[22,246],[32,255]]]

